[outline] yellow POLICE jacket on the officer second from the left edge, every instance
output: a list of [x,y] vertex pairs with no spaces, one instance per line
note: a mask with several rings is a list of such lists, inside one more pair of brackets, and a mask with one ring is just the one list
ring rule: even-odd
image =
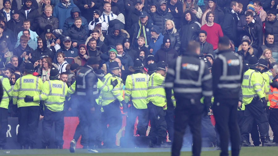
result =
[[28,74],[15,82],[13,104],[17,107],[39,106],[39,102],[24,102],[25,96],[40,95],[43,82],[40,78]]

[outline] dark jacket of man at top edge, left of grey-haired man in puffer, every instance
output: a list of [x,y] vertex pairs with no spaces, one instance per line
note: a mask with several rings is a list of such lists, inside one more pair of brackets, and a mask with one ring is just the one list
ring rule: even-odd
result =
[[[33,4],[34,0],[31,0],[31,1],[32,1],[32,4]],[[30,29],[32,31],[36,31],[36,29],[38,28],[38,23],[36,23],[36,20],[37,20],[38,17],[40,17],[39,11],[36,9],[35,6],[32,5],[31,10],[30,10],[30,12],[29,12],[29,14],[27,15],[27,18],[26,18],[25,10],[27,10],[27,8],[26,8],[26,5],[24,4],[22,6],[22,8],[20,9],[19,16],[21,16],[21,18],[23,18],[23,19],[30,20],[30,23],[31,23]]]

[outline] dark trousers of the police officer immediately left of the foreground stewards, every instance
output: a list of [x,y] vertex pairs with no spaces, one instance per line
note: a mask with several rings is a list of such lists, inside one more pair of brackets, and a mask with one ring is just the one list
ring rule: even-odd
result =
[[[167,135],[167,124],[165,121],[165,113],[162,107],[154,105],[152,102],[148,103],[149,109],[149,118],[150,118],[150,133],[149,136],[152,139],[153,143],[161,144],[162,141],[166,140]],[[157,140],[157,142],[154,142]]]

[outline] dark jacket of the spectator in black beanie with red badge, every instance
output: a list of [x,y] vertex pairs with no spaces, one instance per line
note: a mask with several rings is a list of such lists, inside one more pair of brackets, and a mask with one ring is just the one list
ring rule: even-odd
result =
[[179,54],[175,49],[171,47],[166,49],[162,44],[161,48],[155,53],[154,58],[155,58],[155,62],[165,61],[167,64],[169,64],[172,60],[174,60],[178,56]]

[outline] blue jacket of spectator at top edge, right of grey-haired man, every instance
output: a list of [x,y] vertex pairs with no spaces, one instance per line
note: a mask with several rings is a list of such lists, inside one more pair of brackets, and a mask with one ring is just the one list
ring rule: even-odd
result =
[[63,29],[65,20],[70,17],[70,11],[73,7],[76,7],[74,2],[71,2],[68,8],[65,8],[61,2],[54,7],[53,16],[59,20],[59,29]]

